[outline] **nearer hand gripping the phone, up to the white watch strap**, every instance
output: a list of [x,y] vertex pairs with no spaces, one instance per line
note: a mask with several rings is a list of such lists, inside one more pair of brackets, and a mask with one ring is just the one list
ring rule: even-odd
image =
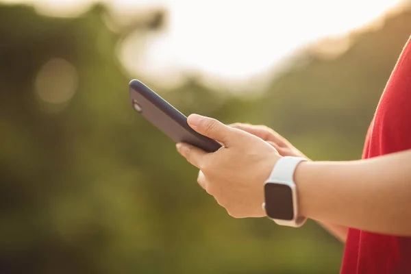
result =
[[224,145],[206,153],[192,145],[177,144],[179,153],[203,173],[203,188],[233,217],[266,216],[262,210],[264,182],[281,157],[277,150],[257,136],[208,117],[192,114],[188,125]]

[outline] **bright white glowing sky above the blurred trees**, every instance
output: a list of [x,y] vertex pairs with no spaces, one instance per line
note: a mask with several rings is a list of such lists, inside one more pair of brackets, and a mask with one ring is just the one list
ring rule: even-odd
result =
[[[4,0],[3,0],[4,1]],[[20,0],[7,0],[16,2]],[[26,0],[40,12],[71,15],[85,0]],[[130,37],[120,58],[127,70],[153,79],[178,79],[197,71],[220,82],[245,84],[284,56],[325,36],[363,26],[399,0],[108,0],[118,14],[164,6],[164,32],[136,45]],[[145,48],[145,54],[136,51]]]

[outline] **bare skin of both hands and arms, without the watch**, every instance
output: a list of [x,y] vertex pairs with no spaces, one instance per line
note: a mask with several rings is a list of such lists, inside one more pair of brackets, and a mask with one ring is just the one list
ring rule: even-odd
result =
[[[301,155],[266,127],[232,127],[192,114],[188,125],[223,143],[214,153],[177,144],[200,169],[199,184],[235,218],[266,216],[263,185],[284,155]],[[295,171],[299,214],[328,227],[341,240],[347,228],[411,236],[411,151],[369,160],[302,162]]]

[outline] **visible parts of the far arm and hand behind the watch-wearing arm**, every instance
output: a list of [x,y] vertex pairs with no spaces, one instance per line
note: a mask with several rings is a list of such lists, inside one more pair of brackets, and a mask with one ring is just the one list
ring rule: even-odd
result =
[[[308,159],[306,155],[304,155],[290,142],[288,142],[286,138],[277,134],[277,132],[269,127],[266,127],[264,125],[247,125],[242,123],[235,123],[230,125],[230,127],[241,129],[245,132],[248,132],[249,134],[253,134],[254,136],[262,138],[262,140],[266,142],[269,142],[270,145],[277,149],[279,155],[296,156]],[[319,221],[318,223],[341,242],[345,242],[345,240],[347,240],[348,227],[321,221]]]

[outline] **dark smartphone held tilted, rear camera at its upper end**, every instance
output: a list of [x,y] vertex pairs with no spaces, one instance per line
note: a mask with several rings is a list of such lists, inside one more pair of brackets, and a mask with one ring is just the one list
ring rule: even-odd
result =
[[132,80],[129,90],[134,110],[175,142],[186,142],[207,152],[217,151],[221,147],[216,140],[195,132],[188,125],[184,114],[142,82]]

